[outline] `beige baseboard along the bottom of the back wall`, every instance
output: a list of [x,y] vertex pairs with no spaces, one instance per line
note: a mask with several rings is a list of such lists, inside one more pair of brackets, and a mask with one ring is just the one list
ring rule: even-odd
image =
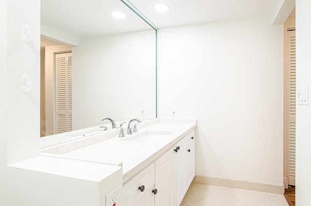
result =
[[193,183],[284,194],[284,186],[195,175]]

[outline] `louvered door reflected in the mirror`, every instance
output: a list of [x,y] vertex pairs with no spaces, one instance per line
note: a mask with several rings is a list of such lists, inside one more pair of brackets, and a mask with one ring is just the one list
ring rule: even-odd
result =
[[71,52],[55,55],[56,134],[72,131]]

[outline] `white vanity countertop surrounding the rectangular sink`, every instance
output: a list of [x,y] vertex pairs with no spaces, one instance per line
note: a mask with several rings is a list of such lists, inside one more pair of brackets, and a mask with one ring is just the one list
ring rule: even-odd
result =
[[[52,148],[48,147],[42,149],[40,155],[121,166],[123,183],[125,183],[137,172],[170,149],[182,137],[193,130],[195,126],[196,120],[155,119],[140,123],[138,126],[138,133],[133,133],[133,135],[118,137],[119,130],[113,130],[106,132],[107,137],[104,137],[104,134],[100,135],[101,139],[104,140],[97,143],[87,143],[84,147],[80,145],[77,147],[78,149],[69,150],[66,148],[66,143],[63,143],[61,146],[54,145]],[[124,132],[126,133],[126,131]],[[129,141],[129,138],[141,136],[148,132],[164,132],[165,135],[155,142]],[[94,137],[87,137],[86,139],[88,142],[91,142],[94,138],[99,137],[95,135]],[[83,141],[83,139],[80,141]],[[84,141],[86,142],[86,140]],[[75,142],[73,147],[75,147],[78,142],[79,140]],[[53,150],[53,148],[55,149],[57,147],[65,149],[65,152],[57,149]],[[47,153],[47,151],[49,151],[49,153]]]

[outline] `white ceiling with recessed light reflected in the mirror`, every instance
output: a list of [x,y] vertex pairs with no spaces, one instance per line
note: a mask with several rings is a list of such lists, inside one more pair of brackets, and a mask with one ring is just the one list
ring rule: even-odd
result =
[[[111,11],[122,11],[117,19]],[[76,38],[152,29],[121,0],[41,0],[41,34]]]

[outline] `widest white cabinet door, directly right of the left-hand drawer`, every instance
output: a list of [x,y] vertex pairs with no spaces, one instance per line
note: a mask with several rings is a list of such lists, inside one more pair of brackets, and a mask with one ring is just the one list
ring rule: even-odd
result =
[[176,205],[175,157],[171,148],[155,161],[155,206]]

